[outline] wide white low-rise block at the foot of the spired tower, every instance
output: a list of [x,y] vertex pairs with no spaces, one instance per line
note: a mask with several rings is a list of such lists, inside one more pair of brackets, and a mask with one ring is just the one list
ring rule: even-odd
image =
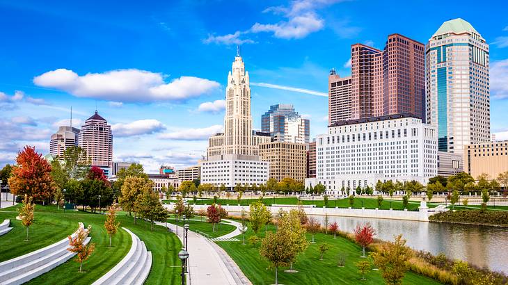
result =
[[[259,156],[257,156],[259,157]],[[269,163],[266,161],[242,159],[237,155],[225,155],[223,159],[203,161],[201,184],[213,184],[233,188],[237,184],[261,185],[268,181]]]

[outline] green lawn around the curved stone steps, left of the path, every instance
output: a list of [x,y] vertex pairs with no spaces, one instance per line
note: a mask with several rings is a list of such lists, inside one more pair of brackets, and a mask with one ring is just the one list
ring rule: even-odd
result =
[[[14,210],[14,211],[13,211]],[[0,236],[0,261],[21,256],[33,250],[60,241],[72,234],[78,227],[78,222],[85,226],[92,225],[91,243],[95,243],[95,252],[83,264],[85,272],[78,273],[79,263],[70,259],[61,266],[32,279],[29,284],[91,284],[106,274],[129,251],[132,241],[127,231],[120,229],[113,236],[109,246],[109,236],[104,229],[105,215],[86,213],[82,211],[57,210],[56,206],[35,206],[35,222],[30,227],[31,241],[23,241],[25,228],[15,220],[17,212],[13,207],[0,211],[0,219],[10,218],[13,229]],[[168,234],[164,227],[154,226],[150,231],[150,224],[138,220],[134,225],[134,218],[118,215],[120,227],[126,227],[136,234],[149,251],[152,252],[152,268],[145,284],[179,284],[180,260],[177,252],[182,244],[174,234]],[[176,266],[176,267],[173,267]]]

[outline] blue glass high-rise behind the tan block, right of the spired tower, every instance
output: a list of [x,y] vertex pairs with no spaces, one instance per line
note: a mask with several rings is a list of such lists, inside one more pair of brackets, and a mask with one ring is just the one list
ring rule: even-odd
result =
[[292,104],[270,106],[269,111],[261,115],[262,131],[271,134],[271,140],[278,142],[308,143],[310,139],[310,121],[303,119]]

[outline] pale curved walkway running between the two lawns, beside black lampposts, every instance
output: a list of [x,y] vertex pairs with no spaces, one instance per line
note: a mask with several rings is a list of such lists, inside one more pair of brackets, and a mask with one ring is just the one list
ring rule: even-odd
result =
[[[237,227],[235,231],[225,236],[231,236],[237,232],[239,223],[227,220],[231,225]],[[157,225],[164,227],[164,223],[156,222]],[[167,224],[171,231],[176,232],[176,225]],[[178,227],[178,238],[183,239],[183,228]],[[233,261],[225,251],[210,241],[208,238],[189,231],[189,274],[187,275],[187,282],[191,285],[236,285],[236,284],[252,284],[241,272],[235,261]]]

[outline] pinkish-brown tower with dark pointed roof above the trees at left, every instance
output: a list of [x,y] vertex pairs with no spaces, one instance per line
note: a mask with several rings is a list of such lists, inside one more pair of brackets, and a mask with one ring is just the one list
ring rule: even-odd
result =
[[97,111],[81,126],[79,146],[86,151],[92,165],[102,168],[109,176],[113,167],[113,135],[111,126]]

